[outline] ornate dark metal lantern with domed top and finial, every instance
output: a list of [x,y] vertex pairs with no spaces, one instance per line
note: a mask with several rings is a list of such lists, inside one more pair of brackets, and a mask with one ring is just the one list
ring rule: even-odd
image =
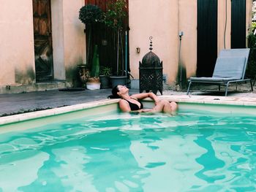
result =
[[152,91],[157,94],[160,91],[162,95],[162,61],[152,52],[152,37],[150,39],[150,52],[146,53],[139,64],[140,69],[140,93],[144,90],[148,93]]

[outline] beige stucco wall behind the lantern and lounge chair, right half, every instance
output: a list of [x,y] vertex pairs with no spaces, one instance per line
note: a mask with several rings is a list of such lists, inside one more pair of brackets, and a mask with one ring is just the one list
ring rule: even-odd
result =
[[[230,48],[231,2],[227,1],[225,32],[225,1],[218,1],[217,45],[219,50]],[[246,1],[246,28],[252,15],[252,0]],[[153,36],[154,53],[163,61],[167,83],[175,84],[178,72],[178,31],[184,31],[181,40],[181,64],[187,77],[194,76],[197,68],[197,0],[140,0],[129,1],[130,68],[138,79],[138,61],[148,52],[148,37]],[[247,29],[245,29],[247,30]],[[136,53],[140,47],[140,53]]]

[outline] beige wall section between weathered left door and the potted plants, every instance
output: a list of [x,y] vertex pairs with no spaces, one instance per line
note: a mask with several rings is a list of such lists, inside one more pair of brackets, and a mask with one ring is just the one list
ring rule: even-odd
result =
[[54,78],[72,78],[78,64],[85,63],[85,28],[78,19],[84,0],[52,0]]

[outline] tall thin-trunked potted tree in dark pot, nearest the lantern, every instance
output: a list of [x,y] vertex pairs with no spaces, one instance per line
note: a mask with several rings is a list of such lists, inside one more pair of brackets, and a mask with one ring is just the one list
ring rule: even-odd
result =
[[127,1],[110,1],[107,11],[103,13],[105,25],[112,28],[116,39],[116,75],[110,76],[112,88],[116,85],[126,85],[127,75],[124,75],[124,50],[122,32],[124,18],[127,17]]

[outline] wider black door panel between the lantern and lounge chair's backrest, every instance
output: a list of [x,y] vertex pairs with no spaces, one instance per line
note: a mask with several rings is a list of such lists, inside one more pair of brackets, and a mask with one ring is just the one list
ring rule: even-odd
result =
[[217,59],[217,0],[197,0],[197,77],[211,77]]

